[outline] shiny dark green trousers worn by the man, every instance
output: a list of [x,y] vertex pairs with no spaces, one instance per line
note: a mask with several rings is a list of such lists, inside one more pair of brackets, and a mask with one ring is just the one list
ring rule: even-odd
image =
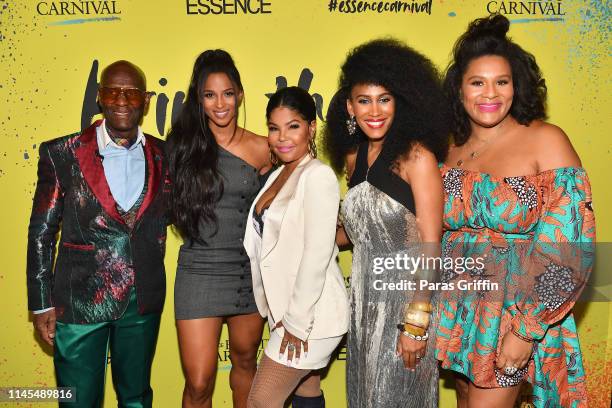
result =
[[74,387],[76,403],[60,407],[101,407],[108,352],[119,407],[151,407],[151,364],[160,315],[139,315],[136,291],[123,316],[95,324],[56,323],[53,361],[58,387]]

